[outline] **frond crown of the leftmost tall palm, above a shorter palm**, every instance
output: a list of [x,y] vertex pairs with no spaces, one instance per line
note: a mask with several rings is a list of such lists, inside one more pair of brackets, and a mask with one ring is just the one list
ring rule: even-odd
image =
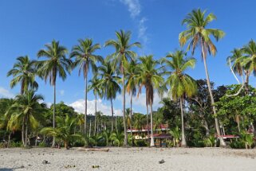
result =
[[7,72],[7,76],[14,76],[14,79],[10,81],[10,87],[15,87],[18,83],[21,84],[21,94],[30,88],[37,89],[38,84],[35,81],[35,60],[30,60],[29,56],[19,56],[17,63],[14,67]]

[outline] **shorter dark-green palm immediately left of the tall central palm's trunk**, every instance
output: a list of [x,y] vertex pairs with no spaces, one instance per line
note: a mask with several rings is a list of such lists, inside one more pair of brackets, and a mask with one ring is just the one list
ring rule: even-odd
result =
[[111,103],[111,132],[114,130],[114,110],[112,100],[116,99],[116,94],[121,92],[121,88],[118,84],[120,76],[116,76],[115,70],[109,61],[104,63],[98,68],[98,74],[100,77],[100,84],[103,87],[103,96],[105,99],[110,99]]

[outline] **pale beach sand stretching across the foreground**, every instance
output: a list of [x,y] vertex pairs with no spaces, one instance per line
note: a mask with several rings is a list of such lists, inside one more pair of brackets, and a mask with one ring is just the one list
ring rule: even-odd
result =
[[[49,164],[43,164],[44,160]],[[256,170],[256,150],[144,147],[91,152],[11,148],[0,149],[3,170]]]

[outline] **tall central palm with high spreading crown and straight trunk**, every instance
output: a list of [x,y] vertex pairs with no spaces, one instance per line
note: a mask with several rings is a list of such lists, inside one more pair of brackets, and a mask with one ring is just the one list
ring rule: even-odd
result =
[[124,120],[124,146],[127,146],[127,130],[125,125],[125,68],[128,61],[134,60],[136,57],[136,52],[133,52],[132,47],[140,47],[139,42],[130,44],[131,32],[116,32],[116,40],[108,40],[105,42],[104,46],[112,46],[116,49],[112,55],[108,56],[108,60],[112,60],[113,66],[120,66],[120,72],[122,74],[122,84],[123,84],[123,120]]

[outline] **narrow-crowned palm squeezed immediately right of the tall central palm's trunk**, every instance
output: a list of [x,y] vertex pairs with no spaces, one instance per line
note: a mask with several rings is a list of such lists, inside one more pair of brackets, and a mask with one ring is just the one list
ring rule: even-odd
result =
[[127,82],[126,82],[126,91],[128,94],[131,96],[130,99],[130,129],[131,129],[131,135],[132,135],[132,97],[136,95],[136,76],[138,74],[138,68],[137,68],[137,62],[136,60],[132,60],[130,64],[128,64],[128,69],[127,69]]

